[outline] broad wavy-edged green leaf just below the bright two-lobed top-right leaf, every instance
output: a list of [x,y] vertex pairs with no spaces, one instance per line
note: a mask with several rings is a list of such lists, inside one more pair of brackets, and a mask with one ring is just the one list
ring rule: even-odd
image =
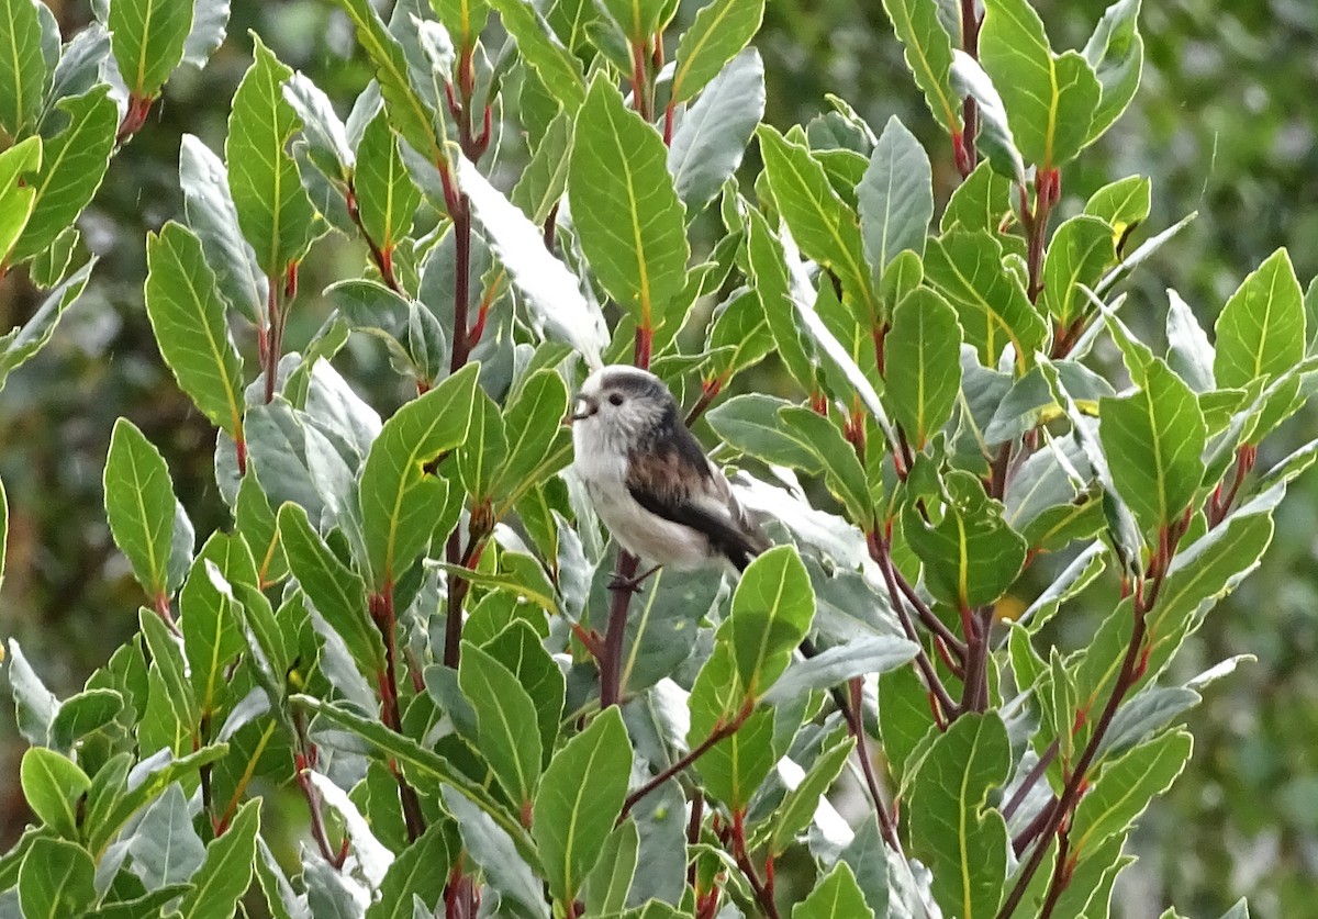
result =
[[996,367],[1011,344],[1016,366],[1033,363],[1048,327],[1025,296],[1020,279],[1003,267],[1002,244],[988,230],[952,229],[929,240],[924,271],[957,308],[957,317],[986,367]]

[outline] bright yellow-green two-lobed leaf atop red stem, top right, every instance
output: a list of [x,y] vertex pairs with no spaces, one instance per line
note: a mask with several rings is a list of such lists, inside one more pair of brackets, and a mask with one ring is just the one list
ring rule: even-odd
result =
[[979,59],[1025,159],[1041,169],[1064,166],[1091,140],[1098,78],[1078,53],[1053,54],[1043,20],[1025,0],[985,1]]

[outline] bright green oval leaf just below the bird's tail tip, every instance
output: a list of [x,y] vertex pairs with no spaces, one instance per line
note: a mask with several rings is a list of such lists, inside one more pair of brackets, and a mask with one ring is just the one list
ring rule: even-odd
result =
[[746,567],[718,635],[731,645],[747,698],[783,674],[813,616],[815,590],[795,546],[774,546]]

